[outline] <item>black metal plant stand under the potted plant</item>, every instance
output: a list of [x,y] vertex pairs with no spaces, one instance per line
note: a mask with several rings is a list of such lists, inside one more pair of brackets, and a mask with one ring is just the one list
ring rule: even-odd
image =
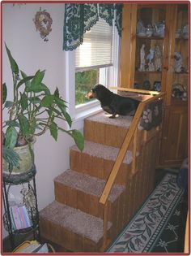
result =
[[[11,249],[16,246],[15,237],[19,234],[33,233],[34,240],[40,241],[39,230],[39,212],[36,198],[36,167],[28,172],[18,175],[3,173],[3,204],[5,213],[3,215],[3,224],[6,231],[9,233],[11,241]],[[13,224],[13,213],[11,212],[11,198],[10,189],[12,186],[22,185],[21,202],[27,210],[27,215],[30,220],[31,226],[27,228],[15,228]],[[25,187],[24,187],[25,186]],[[22,215],[22,214],[21,214]],[[26,216],[25,216],[26,217]],[[22,222],[22,221],[21,221]]]

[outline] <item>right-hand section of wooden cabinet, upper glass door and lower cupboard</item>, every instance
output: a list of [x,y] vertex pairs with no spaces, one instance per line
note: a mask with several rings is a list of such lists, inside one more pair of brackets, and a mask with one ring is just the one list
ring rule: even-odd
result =
[[[172,25],[169,37],[171,50],[159,154],[159,165],[162,167],[180,166],[188,157],[189,38],[183,33],[183,28],[189,22],[188,5],[173,6],[174,26]],[[180,53],[182,57],[183,64],[180,72],[176,72],[175,53]],[[181,94],[175,95],[173,93],[175,88],[180,89]]]

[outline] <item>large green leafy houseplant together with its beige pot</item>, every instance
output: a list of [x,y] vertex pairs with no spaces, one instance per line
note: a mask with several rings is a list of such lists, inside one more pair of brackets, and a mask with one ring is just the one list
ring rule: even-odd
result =
[[79,150],[83,150],[83,135],[78,130],[66,130],[61,126],[64,122],[71,127],[72,120],[58,89],[51,93],[43,83],[45,71],[38,70],[35,75],[28,76],[19,70],[7,46],[6,53],[11,64],[13,100],[6,100],[4,83],[2,103],[8,119],[2,123],[3,172],[13,175],[29,171],[35,161],[33,144],[36,137],[48,130],[55,141],[58,131],[66,132],[74,138]]

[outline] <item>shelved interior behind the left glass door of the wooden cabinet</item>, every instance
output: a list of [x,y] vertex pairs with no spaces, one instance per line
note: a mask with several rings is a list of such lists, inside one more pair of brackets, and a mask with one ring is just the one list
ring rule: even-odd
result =
[[[142,21],[142,24],[146,27],[146,25],[151,24],[152,26],[156,23],[162,22],[165,20],[165,8],[158,7],[158,8],[152,8],[152,7],[144,7],[144,6],[138,6],[138,13],[137,13],[137,20]],[[138,24],[138,22],[137,22]],[[152,32],[154,33],[154,32]],[[154,67],[154,70],[149,70],[149,60],[147,59],[150,50],[155,50],[156,46],[159,46],[160,54],[161,54],[161,64],[162,64],[162,56],[163,56],[163,50],[164,50],[164,37],[160,37],[159,35],[151,35],[151,37],[139,35],[138,31],[136,31],[136,51],[135,51],[135,74],[134,74],[134,83],[137,83],[139,86],[139,89],[145,89],[144,88],[144,81],[149,81],[150,83],[150,89],[154,90],[154,84],[155,82],[161,83],[162,80],[162,65],[161,69],[157,70],[156,67]],[[141,66],[141,49],[142,46],[145,50],[145,59],[146,59],[146,65],[145,70],[140,71]]]

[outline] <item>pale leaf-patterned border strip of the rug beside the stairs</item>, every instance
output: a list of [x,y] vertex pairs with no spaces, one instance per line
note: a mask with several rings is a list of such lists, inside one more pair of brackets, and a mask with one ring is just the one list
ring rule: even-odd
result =
[[176,184],[176,175],[167,173],[106,252],[150,252],[183,193]]

